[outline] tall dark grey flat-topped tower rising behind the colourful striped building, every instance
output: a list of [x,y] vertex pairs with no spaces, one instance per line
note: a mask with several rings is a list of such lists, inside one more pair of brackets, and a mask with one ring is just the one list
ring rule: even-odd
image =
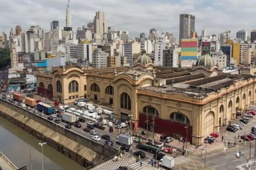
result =
[[181,39],[190,38],[190,34],[195,31],[196,17],[190,14],[179,15],[179,44]]

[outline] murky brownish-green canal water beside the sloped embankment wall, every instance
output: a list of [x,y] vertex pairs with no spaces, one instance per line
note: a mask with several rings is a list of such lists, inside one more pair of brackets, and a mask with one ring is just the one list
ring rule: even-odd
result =
[[[30,170],[30,165],[32,165],[32,170],[42,169],[42,154],[39,142],[40,140],[36,137],[0,117],[0,151],[18,168],[27,166]],[[49,145],[43,146],[43,154],[44,170],[85,169]]]

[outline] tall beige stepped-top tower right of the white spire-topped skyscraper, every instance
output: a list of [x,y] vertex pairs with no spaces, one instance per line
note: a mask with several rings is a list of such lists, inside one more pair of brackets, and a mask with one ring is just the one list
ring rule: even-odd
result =
[[104,34],[107,34],[107,21],[105,19],[105,14],[102,11],[96,12],[94,17],[94,33],[99,34],[101,39],[104,38]]

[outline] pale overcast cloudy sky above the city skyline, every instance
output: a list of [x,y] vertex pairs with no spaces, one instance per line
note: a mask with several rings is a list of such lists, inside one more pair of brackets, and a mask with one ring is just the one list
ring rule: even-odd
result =
[[[39,24],[48,31],[50,22],[65,25],[67,0],[0,0],[0,29],[9,34],[10,28],[21,25],[28,29]],[[178,37],[179,14],[196,16],[196,31],[202,28],[210,34],[231,30],[231,35],[245,29],[256,29],[256,0],[70,0],[72,27],[93,21],[96,11],[103,11],[107,26],[129,31],[132,37],[154,27],[157,31],[174,33]]]

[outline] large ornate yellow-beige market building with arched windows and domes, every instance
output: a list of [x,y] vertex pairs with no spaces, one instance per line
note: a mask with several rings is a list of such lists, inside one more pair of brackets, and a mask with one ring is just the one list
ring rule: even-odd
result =
[[158,68],[145,57],[133,68],[53,68],[51,74],[37,75],[38,93],[51,93],[62,103],[87,98],[113,104],[116,119],[132,115],[140,128],[152,131],[154,124],[155,133],[187,136],[193,144],[202,144],[235,119],[236,111],[255,104],[256,79],[219,72],[209,55],[192,69]]

